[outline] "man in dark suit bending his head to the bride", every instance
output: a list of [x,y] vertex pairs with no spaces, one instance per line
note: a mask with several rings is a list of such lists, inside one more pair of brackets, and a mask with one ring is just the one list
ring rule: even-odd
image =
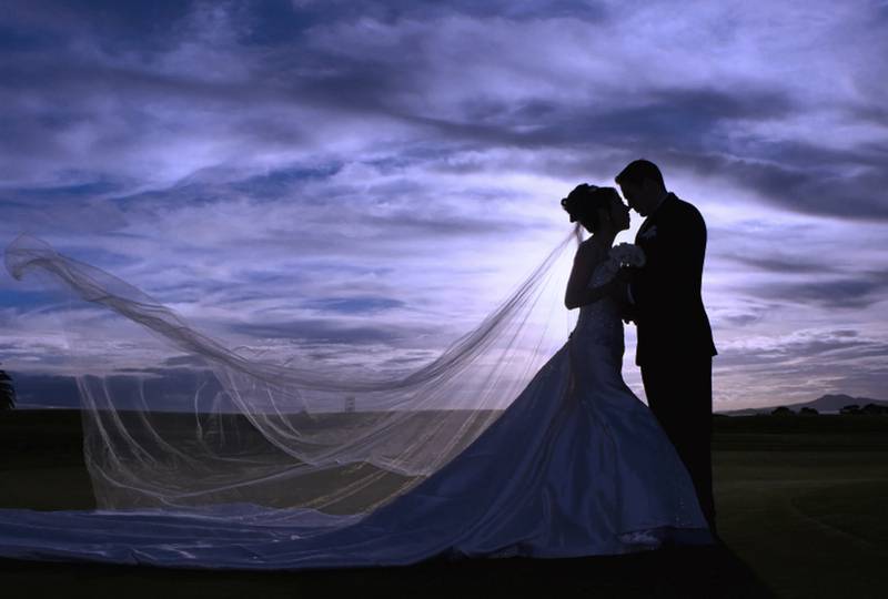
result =
[[700,298],[706,223],[692,204],[666,191],[653,162],[636,160],[615,179],[645,222],[635,243],[646,263],[626,295],[638,332],[635,363],[647,403],[694,480],[700,508],[715,528],[713,500],[713,356]]

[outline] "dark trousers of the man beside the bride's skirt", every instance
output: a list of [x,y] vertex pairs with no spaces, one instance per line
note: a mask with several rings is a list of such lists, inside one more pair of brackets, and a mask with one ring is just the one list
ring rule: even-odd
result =
[[703,515],[715,532],[713,358],[664,358],[642,366],[647,404],[685,463]]

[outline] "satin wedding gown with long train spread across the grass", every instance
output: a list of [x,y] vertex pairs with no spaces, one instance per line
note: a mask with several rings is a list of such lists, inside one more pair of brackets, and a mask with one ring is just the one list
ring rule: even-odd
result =
[[[599,265],[591,282],[602,284]],[[0,555],[191,568],[406,565],[432,557],[579,557],[710,542],[694,486],[620,375],[623,323],[583,306],[567,343],[464,451],[366,515],[230,504],[0,510]]]

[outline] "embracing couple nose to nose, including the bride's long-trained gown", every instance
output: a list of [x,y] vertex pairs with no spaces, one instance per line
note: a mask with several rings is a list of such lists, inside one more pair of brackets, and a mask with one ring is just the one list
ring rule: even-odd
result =
[[[196,514],[167,506],[134,514],[0,510],[0,555],[299,569],[713,542],[716,351],[700,300],[706,226],[648,161],[630,163],[616,183],[628,206],[616,189],[587,184],[562,201],[571,221],[592,233],[577,248],[565,292],[565,305],[579,308],[567,342],[474,441],[392,501],[359,517],[299,508],[282,515],[243,502]],[[629,226],[629,209],[646,217],[636,246],[613,247]],[[7,261],[16,276],[29,264],[50,265],[80,284],[78,264],[47,250],[13,244]],[[83,285],[107,296],[92,277]],[[115,302],[130,317],[144,307]],[[139,322],[153,326],[164,313],[148,307],[151,318]],[[649,408],[622,376],[624,321],[637,327]],[[184,328],[173,324],[159,331]],[[189,342],[198,353],[205,343]]]

